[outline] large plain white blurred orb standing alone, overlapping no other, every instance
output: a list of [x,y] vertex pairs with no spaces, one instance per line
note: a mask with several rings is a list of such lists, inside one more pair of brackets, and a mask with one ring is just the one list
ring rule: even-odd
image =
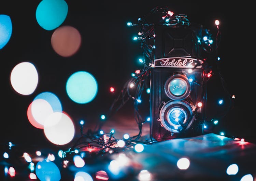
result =
[[37,69],[30,62],[21,62],[12,69],[10,81],[17,93],[30,95],[38,85]]

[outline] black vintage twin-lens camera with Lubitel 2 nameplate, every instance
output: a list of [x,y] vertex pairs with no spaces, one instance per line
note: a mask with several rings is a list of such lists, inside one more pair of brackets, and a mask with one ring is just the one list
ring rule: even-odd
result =
[[201,28],[155,27],[155,60],[150,69],[150,137],[157,141],[201,134],[204,119],[204,62]]

